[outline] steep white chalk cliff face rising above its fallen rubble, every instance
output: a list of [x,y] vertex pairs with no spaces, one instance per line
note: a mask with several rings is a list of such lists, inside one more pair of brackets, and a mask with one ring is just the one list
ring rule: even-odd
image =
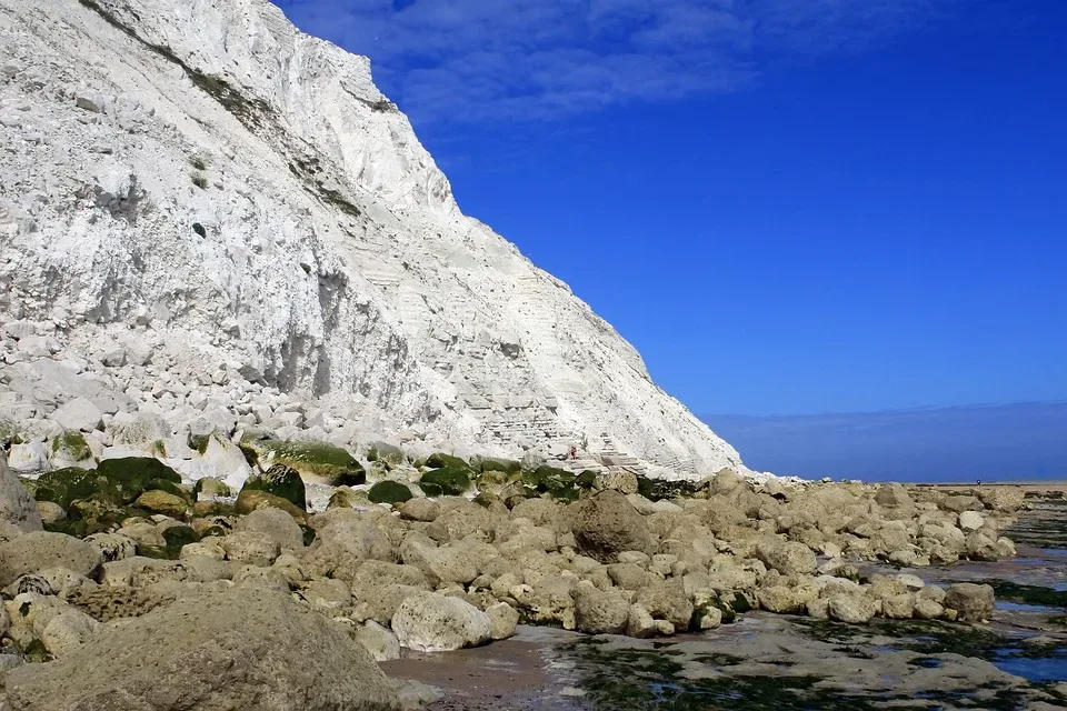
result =
[[266,0],[0,0],[0,310],[63,349],[221,363],[379,438],[742,469],[460,212],[366,58]]

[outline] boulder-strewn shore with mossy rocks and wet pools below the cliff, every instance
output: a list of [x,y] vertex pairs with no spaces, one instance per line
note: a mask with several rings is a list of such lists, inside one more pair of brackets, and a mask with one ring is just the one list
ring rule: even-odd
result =
[[236,498],[4,463],[8,708],[1065,703],[1061,494],[376,450],[322,511],[262,444]]

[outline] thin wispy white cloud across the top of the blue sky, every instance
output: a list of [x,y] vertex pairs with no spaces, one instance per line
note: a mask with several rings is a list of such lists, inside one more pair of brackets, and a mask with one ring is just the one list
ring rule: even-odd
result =
[[276,0],[368,54],[417,120],[546,120],[749,84],[769,58],[856,49],[961,0]]

